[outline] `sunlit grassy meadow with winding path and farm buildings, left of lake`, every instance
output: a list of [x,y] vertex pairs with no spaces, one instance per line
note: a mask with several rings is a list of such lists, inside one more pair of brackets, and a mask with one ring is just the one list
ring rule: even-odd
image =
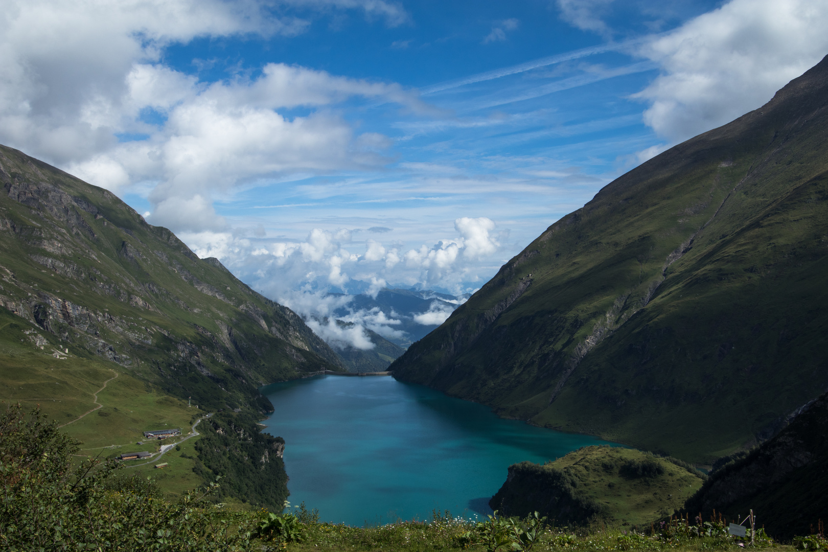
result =
[[[65,353],[64,343],[38,330],[13,314],[0,313],[0,400],[7,405],[20,402],[24,410],[39,405],[47,420],[57,421],[61,430],[81,442],[76,461],[142,450],[155,453],[161,444],[185,439],[196,417],[204,414],[132,377],[114,362],[76,356],[71,345]],[[63,352],[60,358],[55,358],[55,351]],[[181,437],[143,439],[143,431],[166,428],[181,428]],[[128,472],[152,475],[167,497],[178,497],[204,484],[193,473],[196,439],[199,436],[184,440],[181,450],[174,448],[161,460],[124,465]],[[153,468],[158,462],[169,465]],[[143,465],[132,467],[138,463]]]

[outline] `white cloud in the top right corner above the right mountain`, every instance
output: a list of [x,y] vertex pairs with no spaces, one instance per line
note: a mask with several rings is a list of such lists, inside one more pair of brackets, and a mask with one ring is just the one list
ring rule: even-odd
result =
[[647,43],[644,120],[681,142],[760,107],[828,53],[828,2],[731,0]]

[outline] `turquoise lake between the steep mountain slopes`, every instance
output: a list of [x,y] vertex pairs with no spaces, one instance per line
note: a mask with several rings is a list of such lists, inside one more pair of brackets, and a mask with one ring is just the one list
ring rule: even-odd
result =
[[286,441],[288,500],[352,526],[429,520],[434,509],[480,516],[509,465],[607,444],[392,377],[317,376],[262,392],[275,409],[266,431]]

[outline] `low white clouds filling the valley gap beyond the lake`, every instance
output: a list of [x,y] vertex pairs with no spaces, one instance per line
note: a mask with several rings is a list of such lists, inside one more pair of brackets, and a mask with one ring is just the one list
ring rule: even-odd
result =
[[[363,235],[359,229],[315,228],[301,242],[230,232],[185,233],[184,237],[200,257],[219,257],[254,289],[301,314],[326,342],[370,350],[373,343],[366,330],[395,342],[410,341],[403,321],[435,326],[465,302],[460,294],[474,288],[463,279],[481,257],[498,251],[496,228],[488,218],[460,218],[455,221],[455,237],[408,251],[374,238],[357,239],[356,235]],[[440,256],[446,250],[450,254]],[[389,282],[421,289],[435,283],[445,288],[446,282],[454,282],[457,297],[436,300],[433,293],[424,294],[423,299],[432,299],[429,306],[410,313],[351,304],[359,293],[376,299]]]

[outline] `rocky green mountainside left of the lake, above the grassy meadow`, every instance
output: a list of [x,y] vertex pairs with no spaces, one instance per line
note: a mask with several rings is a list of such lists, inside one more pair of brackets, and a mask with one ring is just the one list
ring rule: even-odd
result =
[[107,190],[4,146],[0,181],[0,305],[76,352],[213,409],[264,412],[258,386],[340,369],[299,316]]

